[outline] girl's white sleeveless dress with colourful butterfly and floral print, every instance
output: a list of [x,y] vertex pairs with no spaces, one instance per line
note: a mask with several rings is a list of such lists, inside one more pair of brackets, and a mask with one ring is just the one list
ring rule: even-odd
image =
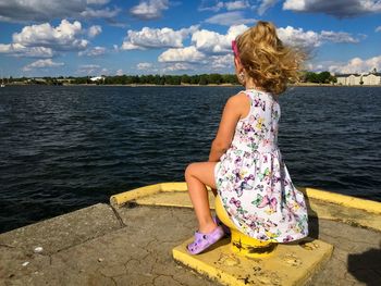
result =
[[271,94],[243,92],[250,99],[249,114],[238,121],[214,169],[222,206],[250,237],[275,243],[303,238],[308,234],[307,208],[278,148],[280,105]]

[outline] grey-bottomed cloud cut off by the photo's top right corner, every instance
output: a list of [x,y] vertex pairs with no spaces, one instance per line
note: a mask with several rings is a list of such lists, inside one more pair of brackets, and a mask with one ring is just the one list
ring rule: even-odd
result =
[[368,13],[380,13],[379,0],[286,0],[284,10],[309,13],[324,13],[336,17],[358,16]]

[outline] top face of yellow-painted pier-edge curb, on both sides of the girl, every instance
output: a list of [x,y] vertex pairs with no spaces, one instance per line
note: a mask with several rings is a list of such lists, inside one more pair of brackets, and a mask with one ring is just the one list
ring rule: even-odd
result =
[[[208,188],[209,189],[209,188]],[[352,196],[340,195],[327,190],[315,189],[315,188],[304,188],[297,187],[303,191],[308,198],[314,198],[317,200],[331,202],[340,204],[346,208],[354,208],[364,210],[371,213],[381,214],[381,202],[359,199]],[[156,185],[149,185],[121,194],[116,194],[110,197],[111,206],[123,206],[127,201],[139,199],[143,197],[151,196],[158,192],[172,192],[172,191],[186,191],[187,186],[185,182],[171,182],[171,183],[161,183]]]

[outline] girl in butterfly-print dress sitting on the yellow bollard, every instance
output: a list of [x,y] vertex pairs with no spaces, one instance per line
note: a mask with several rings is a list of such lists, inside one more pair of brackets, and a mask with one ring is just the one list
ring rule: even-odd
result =
[[195,241],[187,246],[192,254],[224,236],[211,216],[206,185],[250,237],[285,243],[308,234],[304,196],[292,184],[278,148],[278,95],[288,80],[298,79],[304,53],[284,46],[269,22],[258,22],[238,36],[232,49],[245,90],[228,100],[209,161],[192,163],[185,171],[199,224]]

